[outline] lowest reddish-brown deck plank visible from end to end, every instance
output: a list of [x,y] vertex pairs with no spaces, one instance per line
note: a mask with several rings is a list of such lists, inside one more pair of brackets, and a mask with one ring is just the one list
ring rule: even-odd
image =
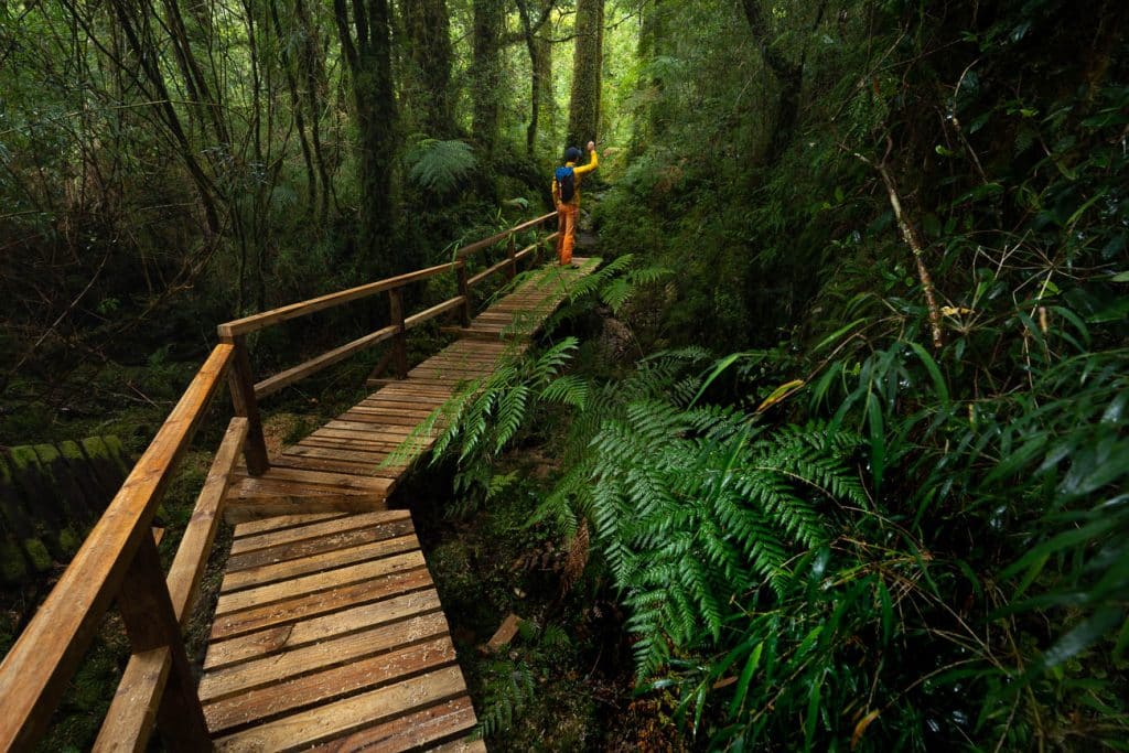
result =
[[454,660],[455,648],[444,637],[205,704],[204,717],[208,719],[208,728],[215,735],[301,707],[376,688],[421,671],[438,668]]

